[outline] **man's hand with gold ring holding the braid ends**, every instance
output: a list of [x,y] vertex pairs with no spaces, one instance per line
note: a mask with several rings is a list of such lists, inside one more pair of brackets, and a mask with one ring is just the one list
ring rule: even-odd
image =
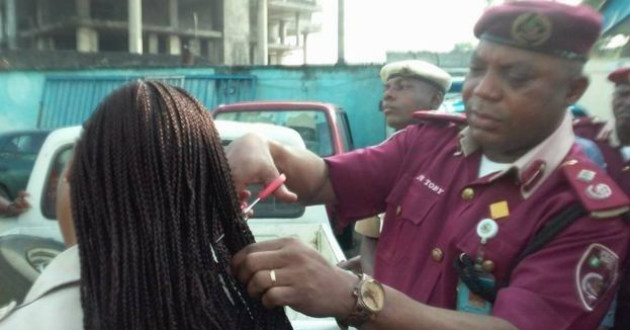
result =
[[288,305],[314,317],[346,317],[356,302],[352,292],[357,276],[296,239],[251,244],[234,256],[232,271],[267,308]]

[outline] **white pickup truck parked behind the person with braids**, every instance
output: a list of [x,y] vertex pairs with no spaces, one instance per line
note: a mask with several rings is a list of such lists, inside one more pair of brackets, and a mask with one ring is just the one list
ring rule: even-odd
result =
[[[305,148],[300,135],[286,127],[219,120],[215,125],[224,145],[253,131]],[[0,305],[21,300],[44,267],[65,248],[55,217],[56,187],[80,132],[81,127],[75,126],[55,130],[48,136],[27,186],[32,208],[17,218],[0,218]],[[269,198],[254,208],[249,226],[257,241],[293,236],[331,263],[344,259],[324,206],[304,207]],[[290,308],[286,311],[295,329],[338,329],[332,318],[310,318]]]

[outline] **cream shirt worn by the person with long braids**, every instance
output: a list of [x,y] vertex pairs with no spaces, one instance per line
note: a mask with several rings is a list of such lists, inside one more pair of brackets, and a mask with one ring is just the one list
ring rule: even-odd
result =
[[0,330],[83,329],[79,249],[59,254],[37,278],[20,306],[0,311]]

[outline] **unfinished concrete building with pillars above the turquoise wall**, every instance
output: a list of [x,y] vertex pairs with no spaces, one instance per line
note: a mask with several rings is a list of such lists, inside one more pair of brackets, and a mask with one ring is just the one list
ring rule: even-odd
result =
[[305,51],[316,1],[0,0],[0,47],[280,64],[286,51]]

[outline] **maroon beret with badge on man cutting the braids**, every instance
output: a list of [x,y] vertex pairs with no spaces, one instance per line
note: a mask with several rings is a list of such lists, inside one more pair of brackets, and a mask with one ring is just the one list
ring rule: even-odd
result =
[[585,61],[601,31],[601,15],[587,6],[516,1],[491,7],[475,36],[535,52]]

